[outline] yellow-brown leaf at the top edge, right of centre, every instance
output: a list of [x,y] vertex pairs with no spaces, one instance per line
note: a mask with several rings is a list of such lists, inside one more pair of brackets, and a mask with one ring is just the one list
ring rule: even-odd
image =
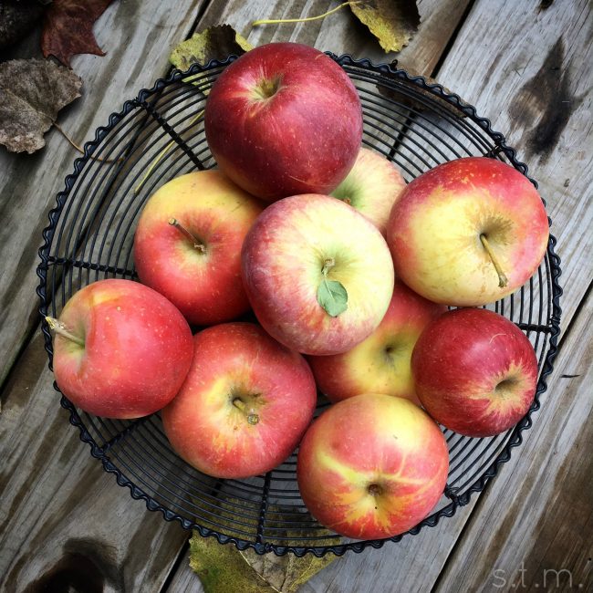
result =
[[385,53],[401,51],[420,25],[415,0],[361,0],[350,3],[350,10],[379,39]]

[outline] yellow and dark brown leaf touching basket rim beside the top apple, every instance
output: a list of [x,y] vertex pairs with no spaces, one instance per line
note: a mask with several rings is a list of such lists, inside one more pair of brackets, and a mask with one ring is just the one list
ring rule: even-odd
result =
[[172,51],[169,60],[175,68],[187,70],[192,64],[205,66],[212,59],[241,56],[253,46],[230,25],[210,26],[182,41]]

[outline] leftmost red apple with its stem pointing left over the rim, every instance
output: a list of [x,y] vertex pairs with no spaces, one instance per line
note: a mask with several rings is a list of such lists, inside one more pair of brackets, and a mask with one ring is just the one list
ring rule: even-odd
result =
[[161,410],[181,388],[193,354],[192,332],[164,296],[111,278],[78,290],[55,329],[57,386],[83,411],[139,418]]

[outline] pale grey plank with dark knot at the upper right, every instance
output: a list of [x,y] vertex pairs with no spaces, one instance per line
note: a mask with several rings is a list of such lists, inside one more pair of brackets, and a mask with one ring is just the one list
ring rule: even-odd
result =
[[[438,78],[505,133],[539,183],[563,260],[563,317],[587,290],[593,219],[593,19],[587,0],[539,10],[484,2],[473,10]],[[500,28],[493,31],[490,16]],[[505,26],[502,26],[502,24]],[[475,51],[475,47],[481,50]]]

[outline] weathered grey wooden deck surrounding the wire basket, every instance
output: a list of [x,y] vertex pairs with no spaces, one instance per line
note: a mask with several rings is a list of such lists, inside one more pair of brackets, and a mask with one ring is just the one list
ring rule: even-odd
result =
[[[95,26],[107,55],[73,58],[83,96],[59,121],[79,143],[92,139],[125,99],[168,72],[172,47],[222,23],[253,45],[290,40],[375,62],[397,58],[489,118],[539,183],[562,260],[562,334],[542,408],[470,505],[398,544],[347,554],[302,590],[591,591],[593,5],[420,0],[419,32],[398,55],[385,55],[349,9],[307,24],[250,26],[335,5],[116,0]],[[38,32],[6,57],[31,56],[37,44]],[[37,313],[37,249],[77,156],[57,130],[32,156],[0,147],[0,588],[201,591],[186,561],[188,533],[103,472],[52,388]]]

